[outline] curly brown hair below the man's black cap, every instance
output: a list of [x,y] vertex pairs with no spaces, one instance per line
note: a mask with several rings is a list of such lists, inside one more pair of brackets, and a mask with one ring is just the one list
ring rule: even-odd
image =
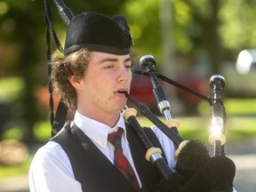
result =
[[89,63],[91,52],[81,49],[70,53],[64,57],[57,54],[52,55],[52,73],[50,80],[52,82],[53,92],[60,95],[60,99],[71,110],[76,109],[76,90],[70,84],[68,77],[76,76],[79,80],[84,77],[84,72]]

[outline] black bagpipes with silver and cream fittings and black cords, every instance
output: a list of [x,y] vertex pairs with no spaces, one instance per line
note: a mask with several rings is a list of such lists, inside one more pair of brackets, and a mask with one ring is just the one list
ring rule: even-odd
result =
[[[72,12],[61,0],[54,0],[57,6],[61,19],[66,25],[74,17]],[[52,25],[52,14],[48,0],[44,0],[45,8],[45,21],[47,26],[47,54],[48,54],[48,73],[51,74],[50,65],[50,29],[54,43],[59,48],[60,52],[63,49],[60,46],[59,40],[54,32]],[[145,70],[134,71],[136,74],[148,76],[152,85],[153,93],[157,102],[159,111],[165,116],[167,122],[164,124],[159,120],[148,107],[141,105],[135,100],[132,95],[123,92],[128,100],[140,110],[143,116],[146,116],[153,124],[156,125],[164,134],[172,140],[177,151],[177,167],[170,168],[162,156],[160,148],[155,148],[148,135],[144,132],[136,119],[137,111],[134,108],[124,108],[122,115],[125,121],[131,125],[132,131],[135,132],[147,150],[146,159],[153,166],[156,167],[158,172],[163,176],[163,180],[156,185],[156,191],[170,191],[170,192],[185,192],[185,191],[232,191],[233,179],[235,177],[235,164],[225,156],[224,144],[225,137],[225,122],[226,112],[222,102],[222,92],[225,86],[225,79],[223,76],[212,76],[210,85],[212,87],[212,95],[204,96],[199,92],[195,92],[188,87],[179,84],[166,76],[160,75],[156,70],[156,61],[153,56],[146,55],[140,58],[140,67]],[[213,146],[213,156],[209,155],[207,148],[198,140],[183,140],[178,132],[179,121],[172,119],[171,105],[167,100],[164,87],[159,83],[158,78],[162,79],[168,84],[172,84],[184,91],[192,93],[197,97],[209,102],[212,109],[212,134],[209,141]],[[53,115],[53,99],[52,99],[52,84],[49,83],[50,92],[50,106],[51,106],[51,123],[52,123],[52,136],[60,131],[65,123],[65,118],[68,114],[68,109],[61,102],[57,108],[56,115]],[[130,127],[130,126],[129,126]]]

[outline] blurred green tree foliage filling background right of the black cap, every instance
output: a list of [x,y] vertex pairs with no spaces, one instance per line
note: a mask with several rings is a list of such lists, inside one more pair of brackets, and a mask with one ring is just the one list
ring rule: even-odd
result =
[[[159,24],[159,2],[130,0],[123,7],[129,18],[134,49],[151,53],[163,61],[163,43]],[[256,23],[253,0],[169,0],[172,3],[172,41],[184,68],[202,63],[209,74],[220,73],[221,61],[236,60],[245,48],[255,48]],[[167,39],[166,39],[167,41]],[[188,65],[184,64],[187,63]],[[170,69],[172,70],[172,69]]]

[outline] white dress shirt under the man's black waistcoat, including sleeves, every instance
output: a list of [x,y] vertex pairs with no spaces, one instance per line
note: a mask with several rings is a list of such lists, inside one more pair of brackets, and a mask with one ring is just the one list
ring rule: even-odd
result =
[[[114,164],[115,148],[108,142],[108,133],[116,132],[118,127],[123,128],[122,148],[124,156],[132,165],[141,187],[140,178],[132,160],[129,142],[126,138],[123,116],[120,115],[116,126],[111,128],[76,111],[74,123],[92,140],[112,164]],[[156,137],[164,148],[168,165],[174,167],[176,160],[173,156],[175,147],[172,141],[158,128],[151,127],[151,129],[156,133]],[[82,192],[81,184],[75,179],[67,154],[54,141],[49,141],[42,148],[38,149],[29,168],[28,180],[31,192]]]

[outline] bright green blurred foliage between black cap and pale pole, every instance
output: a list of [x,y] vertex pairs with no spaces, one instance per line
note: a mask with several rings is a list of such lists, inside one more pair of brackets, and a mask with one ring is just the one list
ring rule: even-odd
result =
[[[157,0],[126,1],[127,15],[134,39],[133,49],[140,55],[162,52]],[[152,38],[154,36],[154,38]]]

